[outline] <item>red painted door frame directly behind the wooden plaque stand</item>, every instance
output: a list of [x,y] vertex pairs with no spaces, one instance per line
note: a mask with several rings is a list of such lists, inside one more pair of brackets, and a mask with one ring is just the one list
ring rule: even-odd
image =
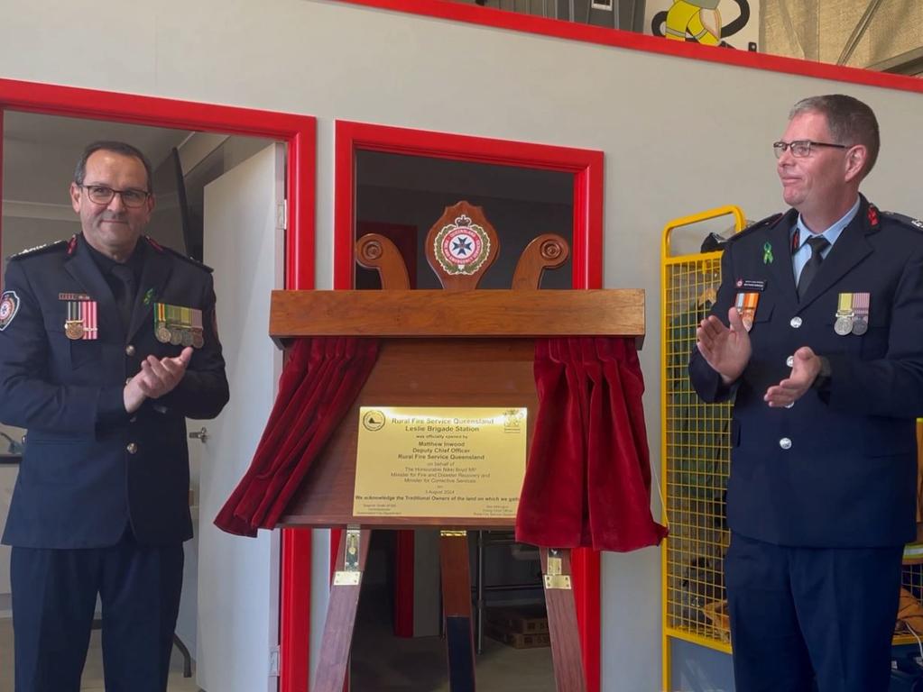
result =
[[[574,288],[599,288],[603,279],[602,151],[450,135],[424,130],[337,121],[334,172],[333,287],[351,288],[354,280],[355,151],[364,149],[429,158],[557,170],[573,175],[571,258]],[[338,545],[332,532],[331,550]],[[331,564],[333,563],[331,556]],[[588,692],[600,686],[600,557],[575,550],[574,596],[580,627]],[[309,573],[299,578],[309,579]],[[295,692],[284,690],[283,692]],[[297,692],[301,692],[298,690]]]

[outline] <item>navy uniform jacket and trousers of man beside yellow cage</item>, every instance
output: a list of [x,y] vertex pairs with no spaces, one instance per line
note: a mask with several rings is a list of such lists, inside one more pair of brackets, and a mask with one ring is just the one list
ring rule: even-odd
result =
[[[903,545],[914,539],[923,413],[923,229],[863,197],[798,300],[797,212],[730,240],[713,314],[757,292],[752,354],[732,386],[694,350],[708,402],[734,397],[725,578],[737,692],[884,692]],[[836,334],[842,293],[869,293],[868,329]],[[810,346],[829,381],[790,408],[762,397]]]

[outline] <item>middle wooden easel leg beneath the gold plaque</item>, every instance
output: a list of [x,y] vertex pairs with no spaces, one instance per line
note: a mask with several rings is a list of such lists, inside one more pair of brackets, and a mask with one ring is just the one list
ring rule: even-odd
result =
[[474,644],[468,534],[443,531],[439,536],[442,607],[446,617],[450,692],[474,692]]

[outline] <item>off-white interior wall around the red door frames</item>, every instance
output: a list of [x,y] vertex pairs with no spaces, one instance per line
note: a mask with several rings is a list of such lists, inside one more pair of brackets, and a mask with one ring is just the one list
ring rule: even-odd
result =
[[[795,100],[831,91],[867,100],[883,151],[866,191],[882,208],[923,213],[915,93],[319,0],[158,0],[133,9],[130,30],[115,0],[92,16],[5,0],[0,65],[11,78],[318,116],[318,287],[332,282],[336,118],[604,150],[605,286],[648,295],[641,364],[654,463],[661,229],[727,203],[751,218],[777,210],[770,143]],[[603,566],[604,689],[657,689],[659,554],[606,555]],[[320,604],[324,580],[313,581]]]

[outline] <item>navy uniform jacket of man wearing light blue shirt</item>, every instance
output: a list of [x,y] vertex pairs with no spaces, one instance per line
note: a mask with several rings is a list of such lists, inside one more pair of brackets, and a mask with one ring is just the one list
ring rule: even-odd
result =
[[[915,536],[923,229],[862,198],[799,303],[789,240],[796,221],[791,210],[727,243],[712,314],[727,324],[737,282],[765,283],[738,381],[723,386],[697,348],[689,363],[704,401],[736,395],[728,525],[776,545],[902,545]],[[833,332],[841,292],[870,294],[866,334]],[[790,374],[786,359],[799,346],[830,360],[831,380],[791,408],[770,408],[763,394]]]

